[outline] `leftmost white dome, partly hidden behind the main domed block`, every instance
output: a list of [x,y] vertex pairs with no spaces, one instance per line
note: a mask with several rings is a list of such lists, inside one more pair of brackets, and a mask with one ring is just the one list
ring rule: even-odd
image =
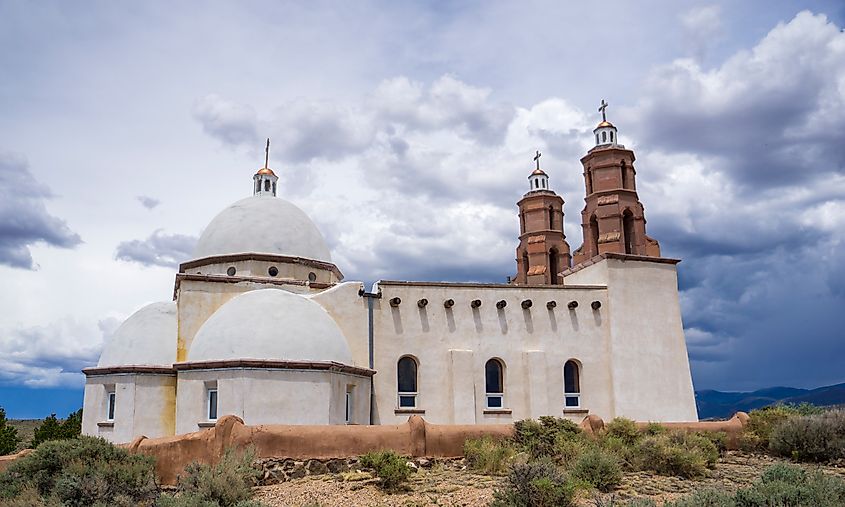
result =
[[176,303],[149,304],[117,328],[100,355],[106,366],[172,366],[176,361]]

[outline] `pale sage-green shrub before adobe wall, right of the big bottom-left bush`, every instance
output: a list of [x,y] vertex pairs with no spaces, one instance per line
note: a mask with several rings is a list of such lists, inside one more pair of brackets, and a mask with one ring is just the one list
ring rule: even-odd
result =
[[[260,472],[253,464],[255,451],[238,453],[229,448],[216,465],[191,463],[179,476],[173,498],[162,497],[159,506],[234,507],[252,498],[252,486]],[[177,502],[177,503],[168,503]],[[182,502],[182,503],[178,503]]]

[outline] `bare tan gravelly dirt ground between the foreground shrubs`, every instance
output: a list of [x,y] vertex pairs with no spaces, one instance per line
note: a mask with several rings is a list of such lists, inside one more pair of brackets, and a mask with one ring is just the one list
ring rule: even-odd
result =
[[[604,498],[650,497],[660,503],[701,488],[736,490],[747,486],[762,470],[777,463],[774,458],[742,452],[728,452],[710,476],[701,480],[661,477],[646,472],[627,473],[620,487]],[[812,468],[812,467],[809,467]],[[822,467],[826,473],[845,478],[845,467]],[[385,494],[366,472],[305,477],[258,488],[256,499],[273,507],[369,507],[369,506],[486,506],[501,477],[477,475],[453,467],[421,468],[411,478],[407,491]],[[584,507],[595,505],[593,497],[581,499]]]

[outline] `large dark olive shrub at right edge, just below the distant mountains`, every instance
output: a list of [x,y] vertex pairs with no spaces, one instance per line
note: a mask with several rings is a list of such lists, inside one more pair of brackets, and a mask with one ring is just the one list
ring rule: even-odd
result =
[[830,461],[845,458],[845,412],[792,417],[782,421],[769,436],[769,449],[797,461]]

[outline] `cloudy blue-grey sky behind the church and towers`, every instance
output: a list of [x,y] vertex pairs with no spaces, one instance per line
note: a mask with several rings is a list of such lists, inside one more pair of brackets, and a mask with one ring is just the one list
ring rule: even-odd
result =
[[534,150],[578,247],[601,99],[696,388],[845,381],[843,4],[582,4],[0,0],[0,405],[76,399],[265,137],[349,280],[513,274]]

